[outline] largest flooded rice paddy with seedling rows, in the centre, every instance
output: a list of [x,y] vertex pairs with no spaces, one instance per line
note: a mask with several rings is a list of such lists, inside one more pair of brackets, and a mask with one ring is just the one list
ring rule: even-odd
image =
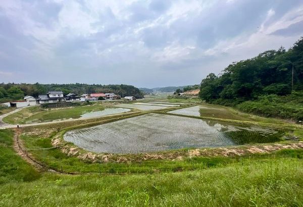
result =
[[66,141],[93,152],[143,153],[274,142],[281,131],[173,115],[147,114],[68,131]]

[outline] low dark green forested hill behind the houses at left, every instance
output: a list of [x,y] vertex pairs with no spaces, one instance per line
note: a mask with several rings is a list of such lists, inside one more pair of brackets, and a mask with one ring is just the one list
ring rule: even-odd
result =
[[62,90],[66,95],[70,92],[76,94],[83,93],[116,93],[124,96],[135,96],[142,98],[144,93],[132,85],[99,85],[99,84],[15,84],[15,83],[1,83],[0,84],[0,102],[22,99],[24,95],[32,95],[37,97],[39,94],[46,94],[47,91]]

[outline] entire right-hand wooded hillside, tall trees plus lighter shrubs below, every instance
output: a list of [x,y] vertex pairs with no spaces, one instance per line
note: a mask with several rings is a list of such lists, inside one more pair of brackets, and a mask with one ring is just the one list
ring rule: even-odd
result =
[[303,119],[303,37],[287,51],[281,46],[232,63],[219,76],[209,74],[199,96],[246,112]]

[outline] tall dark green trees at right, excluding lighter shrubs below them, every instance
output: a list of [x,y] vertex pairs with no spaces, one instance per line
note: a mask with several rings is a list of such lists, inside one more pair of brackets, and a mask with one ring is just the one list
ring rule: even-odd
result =
[[287,51],[268,50],[255,58],[234,62],[221,74],[201,81],[199,96],[211,103],[235,106],[261,95],[287,95],[303,90],[303,37]]

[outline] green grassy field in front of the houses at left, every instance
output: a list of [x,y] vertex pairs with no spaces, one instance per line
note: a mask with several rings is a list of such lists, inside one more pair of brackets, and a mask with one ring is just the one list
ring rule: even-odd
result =
[[21,111],[9,115],[3,119],[4,122],[9,124],[25,124],[32,122],[48,122],[59,119],[80,118],[80,115],[102,111],[105,108],[102,105],[73,107],[73,108],[60,108],[60,109],[42,109],[38,106],[22,109]]

